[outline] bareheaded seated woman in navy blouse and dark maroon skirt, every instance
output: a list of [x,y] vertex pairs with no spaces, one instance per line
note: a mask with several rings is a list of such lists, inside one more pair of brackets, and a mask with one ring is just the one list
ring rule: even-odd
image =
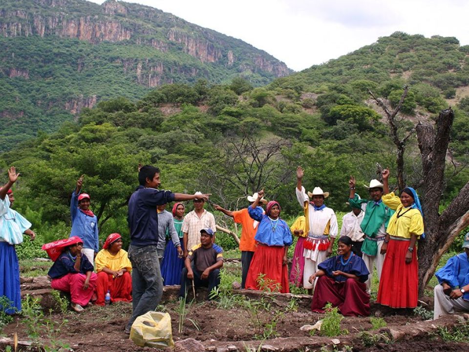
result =
[[320,263],[319,270],[309,278],[310,283],[319,278],[311,310],[323,313],[325,305],[330,302],[339,308],[342,315],[369,315],[370,295],[366,293],[364,284],[369,271],[362,258],[352,252],[350,237],[339,239],[338,253],[338,256]]

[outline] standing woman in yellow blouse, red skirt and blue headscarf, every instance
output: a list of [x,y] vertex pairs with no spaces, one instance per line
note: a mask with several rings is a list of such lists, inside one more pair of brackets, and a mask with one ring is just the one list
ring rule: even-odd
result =
[[411,187],[397,197],[389,193],[389,170],[383,171],[383,202],[396,212],[386,229],[381,253],[386,253],[376,302],[392,308],[415,308],[418,298],[418,263],[415,243],[424,234],[422,208]]

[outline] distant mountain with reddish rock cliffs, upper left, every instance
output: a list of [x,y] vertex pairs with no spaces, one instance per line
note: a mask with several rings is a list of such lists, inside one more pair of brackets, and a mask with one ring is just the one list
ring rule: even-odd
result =
[[0,150],[103,99],[201,78],[259,86],[292,72],[241,40],[115,0],[0,1],[0,62]]

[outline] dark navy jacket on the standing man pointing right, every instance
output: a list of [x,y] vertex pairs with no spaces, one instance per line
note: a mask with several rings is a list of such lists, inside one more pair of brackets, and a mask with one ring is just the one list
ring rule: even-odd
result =
[[156,206],[174,201],[171,191],[138,186],[128,201],[130,244],[136,246],[158,243],[158,214]]

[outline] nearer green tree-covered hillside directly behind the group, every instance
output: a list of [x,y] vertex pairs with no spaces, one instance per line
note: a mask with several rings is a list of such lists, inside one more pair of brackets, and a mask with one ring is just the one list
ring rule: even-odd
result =
[[[390,60],[388,52],[400,51],[400,44],[413,57],[413,65],[381,67],[381,61]],[[381,54],[370,54],[376,45]],[[405,55],[393,55],[403,65]],[[448,58],[458,58],[458,69],[428,68]],[[69,196],[83,174],[102,237],[110,232],[127,235],[126,200],[137,183],[138,163],[160,167],[162,188],[212,193],[213,202],[230,209],[245,206],[244,196],[264,188],[268,199],[280,202],[284,218],[301,212],[294,194],[295,170],[301,165],[305,188],[320,186],[330,192],[328,206],[347,211],[350,175],[357,178],[357,192],[366,197],[362,185],[376,177],[376,162],[390,167],[392,176],[396,170],[389,127],[367,89],[392,106],[406,84],[409,94],[398,119],[400,135],[419,120],[431,122],[449,104],[455,110],[444,208],[469,179],[469,97],[464,96],[468,89],[463,81],[467,60],[464,47],[454,39],[395,33],[265,87],[253,88],[249,81],[235,78],[226,84],[199,81],[135,90],[136,99],[98,102],[58,132],[39,133],[0,154],[0,169],[4,175],[7,166],[15,165],[21,172],[16,207],[46,242],[67,234]],[[416,72],[426,73],[417,80]],[[441,86],[438,77],[452,84]],[[406,147],[405,183],[415,185],[421,176],[415,134]],[[396,180],[391,178],[391,183],[394,187]],[[220,214],[216,217],[218,223],[231,225]],[[227,249],[234,246],[223,235],[217,241]]]

